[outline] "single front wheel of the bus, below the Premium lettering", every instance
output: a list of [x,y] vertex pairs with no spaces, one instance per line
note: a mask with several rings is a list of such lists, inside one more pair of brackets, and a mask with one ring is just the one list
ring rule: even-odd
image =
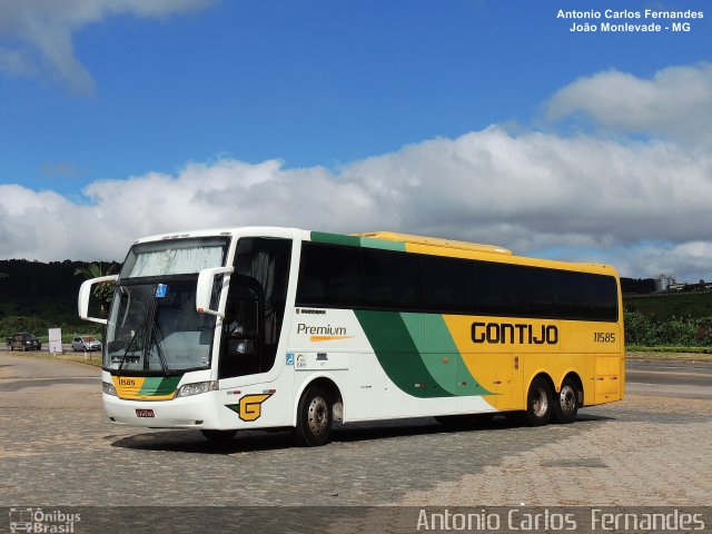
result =
[[319,386],[309,386],[299,399],[294,437],[303,447],[318,447],[332,435],[332,399]]

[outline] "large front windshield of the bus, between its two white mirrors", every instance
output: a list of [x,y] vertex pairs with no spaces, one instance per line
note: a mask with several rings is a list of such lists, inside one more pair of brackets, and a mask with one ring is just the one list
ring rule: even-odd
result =
[[[215,316],[196,312],[200,269],[225,263],[227,239],[135,246],[117,283],[103,367],[171,375],[210,367]],[[214,299],[217,300],[218,284]]]

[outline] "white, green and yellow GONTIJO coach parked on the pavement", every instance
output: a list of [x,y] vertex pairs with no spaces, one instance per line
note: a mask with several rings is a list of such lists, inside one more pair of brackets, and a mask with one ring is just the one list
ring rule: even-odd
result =
[[[108,319],[88,316],[116,281]],[[392,233],[235,228],[147,237],[79,315],[106,324],[120,425],[294,431],[518,413],[571,423],[624,390],[620,281],[606,265]]]

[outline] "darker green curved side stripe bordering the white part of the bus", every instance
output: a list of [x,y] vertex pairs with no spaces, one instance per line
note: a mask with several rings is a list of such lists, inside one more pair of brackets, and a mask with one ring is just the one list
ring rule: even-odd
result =
[[[355,310],[388,378],[414,397],[452,397],[431,375],[400,314]],[[416,357],[413,357],[416,356]]]

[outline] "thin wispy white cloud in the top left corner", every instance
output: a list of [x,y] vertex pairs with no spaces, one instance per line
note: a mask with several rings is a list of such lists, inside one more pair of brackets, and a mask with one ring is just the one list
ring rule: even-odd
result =
[[0,70],[34,76],[49,69],[76,92],[91,92],[93,79],[75,57],[72,33],[116,14],[164,18],[211,0],[0,0],[0,39],[22,48],[0,48]]

